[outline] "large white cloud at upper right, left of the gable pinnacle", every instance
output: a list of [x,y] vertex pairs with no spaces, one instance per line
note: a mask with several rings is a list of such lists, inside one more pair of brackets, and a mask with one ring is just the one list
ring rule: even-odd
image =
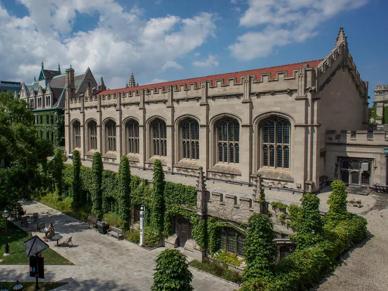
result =
[[[340,12],[356,9],[368,0],[248,0],[248,9],[240,25],[260,30],[238,36],[230,45],[231,54],[239,60],[267,56],[275,47],[303,42],[315,36],[317,27]],[[346,31],[346,27],[345,27]],[[334,40],[333,40],[334,41]]]

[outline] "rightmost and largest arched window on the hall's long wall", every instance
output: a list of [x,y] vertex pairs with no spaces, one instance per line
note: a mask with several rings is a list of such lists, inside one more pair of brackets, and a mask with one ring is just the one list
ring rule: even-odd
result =
[[270,118],[261,123],[262,166],[290,168],[290,129],[290,122],[283,118]]

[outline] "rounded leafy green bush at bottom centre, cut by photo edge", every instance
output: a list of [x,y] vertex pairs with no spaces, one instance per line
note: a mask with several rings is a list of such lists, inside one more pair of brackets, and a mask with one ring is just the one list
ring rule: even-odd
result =
[[186,256],[178,250],[166,249],[156,257],[154,283],[151,291],[192,291],[193,275],[186,263]]

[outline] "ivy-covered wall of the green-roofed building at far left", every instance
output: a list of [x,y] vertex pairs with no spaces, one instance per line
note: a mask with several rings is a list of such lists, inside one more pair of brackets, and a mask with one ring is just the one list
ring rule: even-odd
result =
[[65,146],[65,119],[63,109],[34,111],[36,133],[50,140],[54,146]]

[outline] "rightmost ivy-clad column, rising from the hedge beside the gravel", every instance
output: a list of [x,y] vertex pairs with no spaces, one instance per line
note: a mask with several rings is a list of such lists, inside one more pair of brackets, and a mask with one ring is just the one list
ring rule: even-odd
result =
[[329,211],[323,217],[325,229],[334,229],[342,220],[348,219],[349,213],[347,211],[346,184],[341,180],[335,180],[331,183],[332,192],[329,195]]

